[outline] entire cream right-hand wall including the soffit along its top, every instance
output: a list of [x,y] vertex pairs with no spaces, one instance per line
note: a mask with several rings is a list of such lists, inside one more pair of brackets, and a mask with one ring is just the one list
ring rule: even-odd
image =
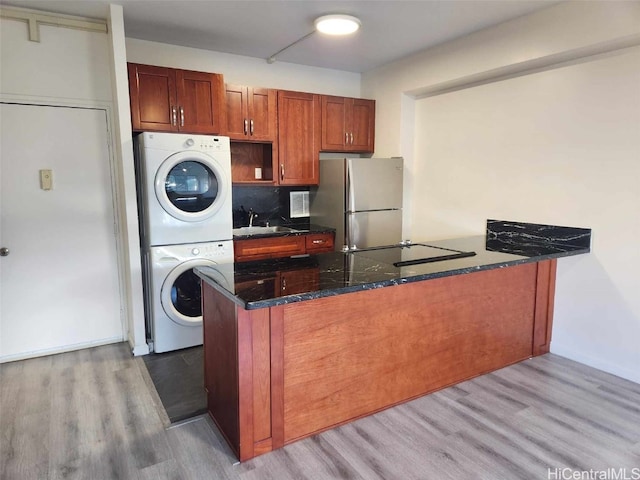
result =
[[640,2],[565,3],[368,72],[362,91],[376,154],[407,158],[410,238],[482,234],[487,218],[593,228],[590,254],[559,261],[551,349],[640,382],[640,53],[616,50],[630,44]]

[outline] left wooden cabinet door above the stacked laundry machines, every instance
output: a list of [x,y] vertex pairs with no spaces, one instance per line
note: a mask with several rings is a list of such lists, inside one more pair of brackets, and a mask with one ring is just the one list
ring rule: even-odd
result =
[[135,63],[128,70],[133,130],[177,131],[175,70]]

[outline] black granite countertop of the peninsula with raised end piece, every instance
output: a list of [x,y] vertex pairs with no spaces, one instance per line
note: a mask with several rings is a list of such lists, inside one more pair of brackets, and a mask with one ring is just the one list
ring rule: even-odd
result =
[[[197,267],[194,271],[236,304],[252,310],[584,254],[590,251],[591,230],[488,220],[486,235],[419,243],[444,249],[444,253],[455,250],[475,255],[396,266],[398,254],[391,250],[360,250],[217,265],[215,269]],[[286,288],[283,278],[288,282]]]

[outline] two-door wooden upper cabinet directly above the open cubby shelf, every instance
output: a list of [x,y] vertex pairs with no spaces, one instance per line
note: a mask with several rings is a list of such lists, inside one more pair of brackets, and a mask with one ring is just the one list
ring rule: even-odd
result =
[[227,84],[226,107],[226,134],[232,140],[277,139],[276,90]]

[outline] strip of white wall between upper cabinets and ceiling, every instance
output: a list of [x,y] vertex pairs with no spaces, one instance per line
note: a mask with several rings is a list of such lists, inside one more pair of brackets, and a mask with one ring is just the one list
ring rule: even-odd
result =
[[164,67],[222,73],[227,83],[326,95],[360,96],[360,74],[275,62],[127,38],[127,60]]

